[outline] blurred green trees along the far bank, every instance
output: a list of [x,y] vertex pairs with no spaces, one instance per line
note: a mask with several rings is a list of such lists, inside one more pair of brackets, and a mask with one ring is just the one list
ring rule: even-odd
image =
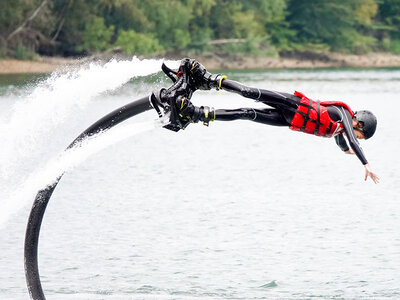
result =
[[400,54],[400,0],[2,0],[0,57]]

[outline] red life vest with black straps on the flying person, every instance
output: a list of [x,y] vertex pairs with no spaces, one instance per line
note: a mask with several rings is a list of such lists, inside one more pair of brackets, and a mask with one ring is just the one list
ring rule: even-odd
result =
[[343,124],[332,120],[329,117],[328,105],[342,106],[348,110],[353,117],[354,113],[350,107],[340,101],[314,101],[300,92],[294,92],[296,96],[301,97],[299,106],[295,111],[290,129],[304,133],[314,134],[316,136],[332,137],[343,131]]

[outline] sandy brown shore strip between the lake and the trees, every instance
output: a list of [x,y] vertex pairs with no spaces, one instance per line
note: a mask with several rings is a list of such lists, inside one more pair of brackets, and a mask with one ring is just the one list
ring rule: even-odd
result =
[[[179,59],[186,57],[169,57]],[[385,68],[400,67],[400,55],[371,53],[366,55],[345,55],[339,53],[286,55],[280,58],[239,55],[198,55],[191,57],[199,60],[209,70],[216,69],[298,69],[298,68]],[[51,73],[88,61],[107,61],[108,57],[85,57],[82,59],[62,57],[39,57],[35,61],[0,59],[0,74]],[[121,59],[121,57],[118,57]],[[126,57],[125,57],[126,58]]]

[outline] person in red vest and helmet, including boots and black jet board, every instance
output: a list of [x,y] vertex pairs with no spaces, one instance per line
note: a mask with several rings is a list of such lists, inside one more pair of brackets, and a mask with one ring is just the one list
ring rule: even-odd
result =
[[[183,69],[186,69],[186,72],[182,72]],[[178,131],[190,123],[199,121],[208,126],[211,121],[250,120],[266,125],[286,126],[291,130],[319,137],[334,137],[342,151],[355,154],[364,165],[365,180],[370,177],[374,183],[379,182],[379,177],[372,172],[357,141],[357,139],[369,139],[374,135],[377,120],[372,112],[367,110],[353,112],[344,102],[316,101],[297,91],[288,94],[248,87],[227,79],[225,75],[209,73],[203,65],[193,59],[182,60],[178,72],[165,65],[163,71],[174,82],[183,79],[180,77],[187,77],[180,81],[178,88],[163,89],[150,97],[150,102],[160,117],[163,115],[161,108],[164,112],[170,113],[171,123],[166,125],[166,128]],[[262,102],[271,108],[215,110],[207,106],[196,107],[190,102],[190,98],[197,89],[226,90]]]

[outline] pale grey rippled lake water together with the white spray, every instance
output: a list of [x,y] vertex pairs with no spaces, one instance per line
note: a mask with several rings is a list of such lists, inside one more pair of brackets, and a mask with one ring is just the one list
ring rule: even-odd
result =
[[[60,153],[111,110],[168,86],[159,64],[0,76],[0,299],[28,299],[26,222]],[[361,145],[381,183],[365,182],[333,139],[249,121],[174,133],[146,112],[98,152],[64,161],[39,244],[48,299],[400,298],[400,70],[225,74],[374,111],[377,132]],[[262,107],[224,91],[193,102]]]

